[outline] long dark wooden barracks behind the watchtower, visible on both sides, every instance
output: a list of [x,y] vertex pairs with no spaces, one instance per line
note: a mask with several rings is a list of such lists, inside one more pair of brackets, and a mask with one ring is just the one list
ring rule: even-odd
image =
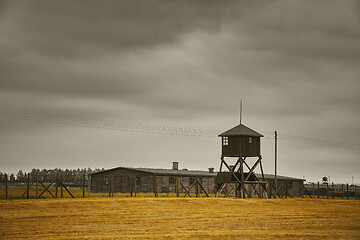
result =
[[[256,175],[259,178],[261,176]],[[189,193],[214,194],[217,191],[216,176],[214,168],[209,168],[208,171],[179,169],[178,162],[173,162],[171,169],[117,167],[90,174],[90,191],[108,193],[110,189],[113,193],[169,193],[176,191],[178,181],[180,193],[186,193],[190,189]],[[270,189],[274,175],[264,174],[264,178]],[[277,181],[280,186],[278,195],[303,195],[303,179],[277,176]],[[194,184],[197,182],[199,184]],[[246,186],[246,190],[249,196],[263,193],[261,188],[254,189],[250,186]],[[224,191],[231,191],[231,187]],[[268,192],[271,194],[270,190]]]

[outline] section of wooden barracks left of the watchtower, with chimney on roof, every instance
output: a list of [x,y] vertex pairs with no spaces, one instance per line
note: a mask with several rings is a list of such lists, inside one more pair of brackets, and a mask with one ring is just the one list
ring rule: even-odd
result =
[[[192,185],[195,187],[189,191],[191,193],[214,192],[214,168],[208,171],[180,170],[178,164],[173,162],[172,169],[117,167],[92,173],[91,192],[106,193],[112,188],[114,193],[168,193],[175,190],[177,182],[179,192],[186,192]],[[197,182],[199,184],[194,184]]]

